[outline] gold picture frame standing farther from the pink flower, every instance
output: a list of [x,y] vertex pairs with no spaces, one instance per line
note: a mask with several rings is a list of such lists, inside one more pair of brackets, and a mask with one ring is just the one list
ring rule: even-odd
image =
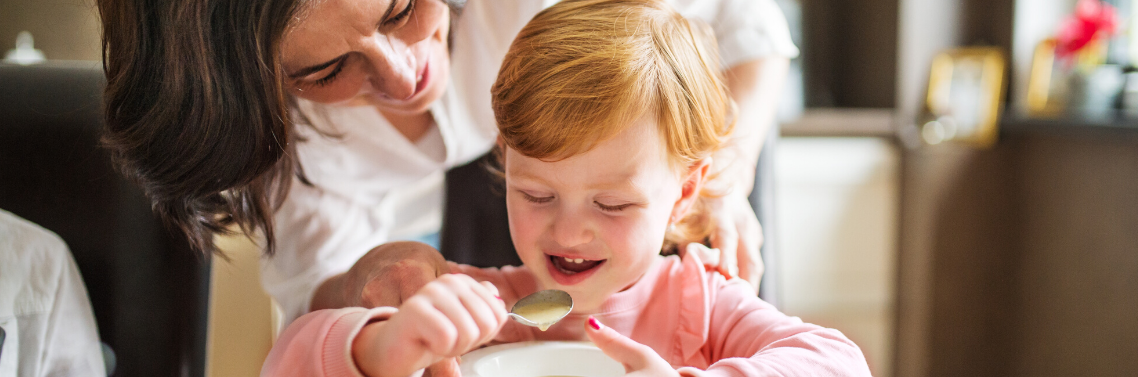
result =
[[959,48],[933,57],[922,139],[930,145],[995,145],[1004,110],[1006,68],[1004,51],[998,48]]

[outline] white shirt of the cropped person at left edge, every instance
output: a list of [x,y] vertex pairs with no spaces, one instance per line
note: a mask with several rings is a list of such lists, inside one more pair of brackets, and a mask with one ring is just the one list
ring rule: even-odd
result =
[[0,377],[106,376],[86,288],[64,240],[0,210]]

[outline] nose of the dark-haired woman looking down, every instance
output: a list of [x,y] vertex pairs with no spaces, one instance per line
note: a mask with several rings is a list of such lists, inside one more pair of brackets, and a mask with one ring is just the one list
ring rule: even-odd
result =
[[371,85],[393,99],[407,99],[415,93],[419,62],[411,47],[402,40],[377,34],[366,49],[371,62]]

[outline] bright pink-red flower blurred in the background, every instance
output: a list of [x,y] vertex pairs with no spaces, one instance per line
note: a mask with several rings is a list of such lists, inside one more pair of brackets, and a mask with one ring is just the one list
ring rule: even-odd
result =
[[1118,31],[1118,11],[1098,0],[1079,0],[1074,16],[1059,24],[1055,35],[1055,54],[1066,58],[1099,38],[1110,38]]

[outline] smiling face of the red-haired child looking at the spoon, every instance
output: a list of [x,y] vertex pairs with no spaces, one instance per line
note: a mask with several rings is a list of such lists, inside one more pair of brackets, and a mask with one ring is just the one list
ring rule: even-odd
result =
[[652,265],[669,219],[687,211],[706,171],[677,173],[652,117],[556,162],[506,148],[506,207],[518,255],[543,289],[568,292],[575,311],[596,311]]

